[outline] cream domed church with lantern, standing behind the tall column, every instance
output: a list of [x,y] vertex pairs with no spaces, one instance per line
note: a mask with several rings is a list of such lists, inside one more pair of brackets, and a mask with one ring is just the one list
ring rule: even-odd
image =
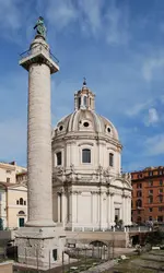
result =
[[54,221],[67,230],[107,230],[131,225],[131,177],[121,174],[115,126],[95,111],[86,86],[74,94],[74,111],[52,131]]

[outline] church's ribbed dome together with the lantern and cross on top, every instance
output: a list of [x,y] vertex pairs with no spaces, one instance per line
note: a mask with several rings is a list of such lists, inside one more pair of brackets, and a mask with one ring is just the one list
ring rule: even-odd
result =
[[112,121],[95,112],[94,99],[95,95],[83,84],[82,90],[74,95],[74,111],[57,123],[55,135],[87,132],[105,134],[119,141],[118,132]]

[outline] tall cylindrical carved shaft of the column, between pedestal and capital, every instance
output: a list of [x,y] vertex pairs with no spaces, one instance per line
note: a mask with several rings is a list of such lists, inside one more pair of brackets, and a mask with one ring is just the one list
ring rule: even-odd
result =
[[51,203],[50,69],[33,63],[28,70],[28,222],[54,226]]

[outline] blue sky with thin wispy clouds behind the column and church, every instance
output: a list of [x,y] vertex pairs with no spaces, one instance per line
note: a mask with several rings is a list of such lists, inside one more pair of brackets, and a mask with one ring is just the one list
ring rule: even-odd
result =
[[38,15],[60,61],[51,79],[52,124],[73,110],[85,76],[96,111],[118,129],[122,169],[163,165],[163,0],[0,0],[0,159],[26,164],[27,72],[19,55]]

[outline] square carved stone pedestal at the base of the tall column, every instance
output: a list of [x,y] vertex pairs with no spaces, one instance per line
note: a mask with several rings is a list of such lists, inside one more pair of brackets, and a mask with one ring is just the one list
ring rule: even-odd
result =
[[65,241],[61,227],[22,227],[15,235],[19,263],[49,269],[61,261]]

